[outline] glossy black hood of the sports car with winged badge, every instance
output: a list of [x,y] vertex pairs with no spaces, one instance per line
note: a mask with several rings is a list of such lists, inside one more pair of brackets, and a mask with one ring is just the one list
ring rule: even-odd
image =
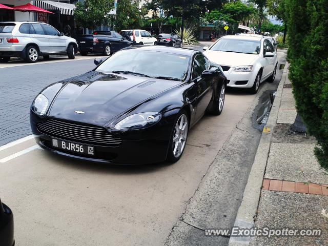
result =
[[53,99],[49,116],[103,126],[115,116],[179,84],[178,81],[119,75],[94,72],[91,76],[66,81]]

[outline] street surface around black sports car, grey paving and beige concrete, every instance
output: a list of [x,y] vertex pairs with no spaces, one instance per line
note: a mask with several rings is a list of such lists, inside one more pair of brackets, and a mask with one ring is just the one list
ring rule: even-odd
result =
[[[29,106],[40,89],[93,67],[90,59],[0,68],[0,145],[30,134]],[[261,92],[275,87],[280,77],[281,71],[274,84],[261,86]],[[229,90],[223,113],[207,115],[198,122],[189,133],[185,153],[174,165],[98,165],[50,154],[36,148],[33,139],[0,147],[0,196],[14,211],[17,245],[174,244],[168,240],[172,228],[191,204],[203,178],[209,176],[216,157],[229,155],[230,148],[222,147],[232,141],[232,132],[257,104],[258,97]],[[252,140],[241,144],[243,151],[249,149],[250,153],[257,148]],[[231,151],[238,152],[232,147]],[[238,158],[243,159],[242,155]],[[226,197],[239,178],[241,185],[231,189],[242,196],[252,156],[244,159],[249,162],[244,170],[224,166],[214,177],[224,180],[226,189],[216,198],[226,199],[226,207],[239,206],[236,197]],[[232,174],[234,178],[224,179]],[[212,216],[211,220],[220,221],[224,215],[229,220],[225,225],[231,226],[237,211],[224,210],[227,208],[218,208],[213,215],[197,212],[191,220]],[[200,245],[193,242],[180,245]]]

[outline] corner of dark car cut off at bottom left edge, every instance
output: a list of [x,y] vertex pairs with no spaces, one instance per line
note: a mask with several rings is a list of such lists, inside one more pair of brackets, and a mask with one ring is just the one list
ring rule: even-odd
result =
[[0,199],[0,245],[14,246],[14,217],[10,208]]

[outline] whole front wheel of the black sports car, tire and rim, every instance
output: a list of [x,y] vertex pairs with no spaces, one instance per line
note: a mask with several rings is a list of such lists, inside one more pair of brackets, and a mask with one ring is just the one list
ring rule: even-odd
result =
[[167,161],[171,163],[174,163],[181,158],[186,147],[189,120],[185,110],[179,112],[173,126],[174,129],[172,131],[167,157]]

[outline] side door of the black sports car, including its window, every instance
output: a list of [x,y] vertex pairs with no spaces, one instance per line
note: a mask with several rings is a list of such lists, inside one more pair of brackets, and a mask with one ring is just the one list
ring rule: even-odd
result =
[[204,70],[209,69],[209,60],[203,54],[197,54],[193,60],[192,82],[197,88],[197,106],[196,119],[201,117],[210,104],[214,83],[214,78],[203,78],[201,74]]

